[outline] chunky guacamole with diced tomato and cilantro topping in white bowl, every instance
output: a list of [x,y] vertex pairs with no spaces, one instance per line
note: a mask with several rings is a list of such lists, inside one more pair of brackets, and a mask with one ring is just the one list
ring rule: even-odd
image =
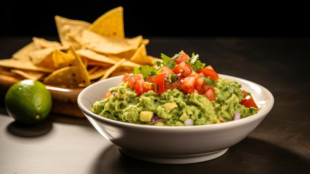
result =
[[180,70],[175,68],[185,60],[173,60],[174,66],[166,64],[147,73],[143,72],[148,69],[145,66],[140,71],[135,69],[140,73],[125,74],[123,83],[110,88],[103,100],[93,104],[92,112],[118,121],[162,126],[220,123],[258,112],[241,84],[219,78],[213,69],[201,70],[203,66],[195,71],[195,64],[190,63],[186,75],[186,71],[178,73]]

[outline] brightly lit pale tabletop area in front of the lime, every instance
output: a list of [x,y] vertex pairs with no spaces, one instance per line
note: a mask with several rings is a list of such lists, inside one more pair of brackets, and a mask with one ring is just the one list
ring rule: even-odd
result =
[[0,114],[0,174],[90,174],[105,151],[121,155],[92,126],[52,122],[47,134],[25,138],[7,130],[12,121]]

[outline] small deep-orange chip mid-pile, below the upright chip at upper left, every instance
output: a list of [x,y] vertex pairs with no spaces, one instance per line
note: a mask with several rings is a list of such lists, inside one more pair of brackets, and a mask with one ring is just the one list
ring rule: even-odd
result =
[[74,57],[70,54],[64,53],[60,50],[54,50],[54,53],[52,54],[54,67],[62,68],[65,66],[71,66],[72,62],[74,60]]

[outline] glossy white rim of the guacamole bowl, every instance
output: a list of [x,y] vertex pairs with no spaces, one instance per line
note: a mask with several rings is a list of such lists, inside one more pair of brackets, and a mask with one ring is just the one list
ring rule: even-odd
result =
[[233,121],[228,121],[228,122],[222,122],[222,123],[217,123],[217,124],[206,124],[206,125],[192,125],[192,126],[154,126],[154,125],[144,125],[144,124],[135,124],[135,123],[129,123],[129,122],[123,122],[123,121],[118,121],[118,120],[113,120],[109,119],[103,116],[99,116],[95,113],[92,113],[89,109],[87,109],[83,104],[82,104],[82,97],[86,93],[87,90],[91,89],[93,86],[99,85],[101,83],[104,83],[107,80],[114,80],[117,78],[120,78],[123,75],[111,77],[104,79],[102,81],[95,82],[86,88],[84,88],[80,94],[78,95],[77,103],[80,108],[80,110],[83,112],[84,115],[90,116],[97,121],[102,121],[104,123],[117,126],[117,127],[130,127],[130,128],[135,128],[135,129],[150,129],[150,130],[176,130],[176,131],[189,131],[189,130],[206,130],[206,129],[221,129],[222,127],[231,127],[231,126],[240,126],[240,124],[247,124],[248,122],[255,121],[257,119],[263,118],[266,116],[272,109],[273,104],[274,104],[274,97],[271,94],[271,92],[266,89],[265,87],[252,82],[250,80],[246,80],[243,78],[235,77],[235,76],[230,76],[230,75],[225,75],[225,74],[219,74],[220,77],[223,78],[229,78],[230,80],[235,80],[235,81],[242,81],[247,84],[252,84],[258,86],[261,91],[264,91],[265,94],[267,95],[267,98],[269,99],[268,105],[265,108],[262,108],[259,110],[259,112],[253,116],[248,116],[242,119],[238,120],[233,120]]

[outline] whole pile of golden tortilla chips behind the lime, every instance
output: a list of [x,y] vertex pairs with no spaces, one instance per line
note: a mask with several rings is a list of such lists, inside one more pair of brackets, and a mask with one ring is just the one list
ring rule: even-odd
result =
[[34,37],[12,58],[0,60],[0,73],[74,88],[158,60],[147,55],[149,40],[124,37],[122,7],[106,12],[92,24],[60,16],[55,16],[55,22],[61,43]]

